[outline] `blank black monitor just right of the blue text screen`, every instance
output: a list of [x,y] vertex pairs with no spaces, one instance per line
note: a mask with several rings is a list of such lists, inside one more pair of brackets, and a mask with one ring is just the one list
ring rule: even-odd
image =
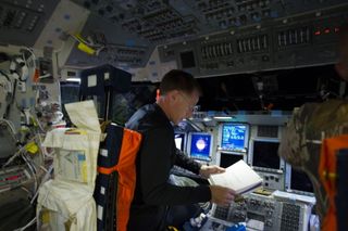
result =
[[278,141],[253,140],[252,166],[279,169],[281,158],[278,156]]

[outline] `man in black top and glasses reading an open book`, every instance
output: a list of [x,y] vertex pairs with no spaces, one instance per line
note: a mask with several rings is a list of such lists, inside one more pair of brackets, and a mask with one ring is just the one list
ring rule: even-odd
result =
[[192,115],[200,95],[200,87],[192,75],[173,69],[160,84],[160,92],[153,104],[139,108],[126,123],[126,127],[142,136],[136,159],[136,189],[130,205],[128,231],[165,230],[169,206],[191,205],[211,201],[228,205],[234,200],[231,189],[217,185],[178,187],[169,182],[174,165],[202,177],[223,172],[219,166],[201,165],[183,153],[174,142],[174,129],[184,118]]

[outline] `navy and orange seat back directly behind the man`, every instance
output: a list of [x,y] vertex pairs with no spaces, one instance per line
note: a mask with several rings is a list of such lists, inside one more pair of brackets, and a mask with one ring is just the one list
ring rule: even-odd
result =
[[108,125],[107,138],[98,155],[98,176],[95,189],[97,230],[126,231],[130,203],[136,184],[136,156],[141,134]]

